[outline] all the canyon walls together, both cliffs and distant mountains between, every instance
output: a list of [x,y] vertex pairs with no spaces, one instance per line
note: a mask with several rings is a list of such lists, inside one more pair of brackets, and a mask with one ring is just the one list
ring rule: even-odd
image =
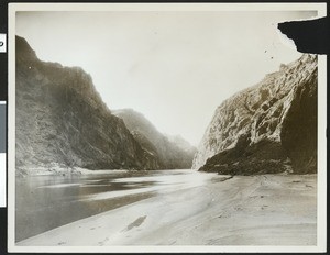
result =
[[[282,65],[227,99],[196,148],[132,109],[109,110],[90,75],[42,62],[16,36],[16,168],[317,171],[317,56]],[[182,145],[182,146],[180,146]],[[194,157],[195,155],[195,157]],[[194,163],[193,163],[194,159]]]

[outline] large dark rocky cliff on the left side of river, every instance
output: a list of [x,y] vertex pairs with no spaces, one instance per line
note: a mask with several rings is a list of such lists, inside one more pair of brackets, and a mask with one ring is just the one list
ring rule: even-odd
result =
[[16,168],[157,168],[78,67],[41,62],[16,36]]

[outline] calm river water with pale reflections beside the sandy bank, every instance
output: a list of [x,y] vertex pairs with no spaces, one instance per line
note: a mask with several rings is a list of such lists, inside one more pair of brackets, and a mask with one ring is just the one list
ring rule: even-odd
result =
[[208,174],[191,169],[18,178],[15,241],[209,179]]

